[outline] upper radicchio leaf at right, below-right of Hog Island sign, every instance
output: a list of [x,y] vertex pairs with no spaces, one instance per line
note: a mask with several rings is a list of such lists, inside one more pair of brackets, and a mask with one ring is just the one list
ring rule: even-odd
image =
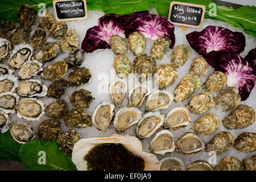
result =
[[189,45],[203,56],[220,50],[239,54],[245,49],[245,36],[224,27],[208,26],[201,32],[187,34],[186,38]]

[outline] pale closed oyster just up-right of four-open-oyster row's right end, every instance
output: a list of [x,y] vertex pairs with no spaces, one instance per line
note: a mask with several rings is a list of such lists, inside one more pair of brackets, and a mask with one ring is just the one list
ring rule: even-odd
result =
[[211,92],[200,92],[193,96],[186,107],[195,114],[203,114],[214,107],[214,95]]

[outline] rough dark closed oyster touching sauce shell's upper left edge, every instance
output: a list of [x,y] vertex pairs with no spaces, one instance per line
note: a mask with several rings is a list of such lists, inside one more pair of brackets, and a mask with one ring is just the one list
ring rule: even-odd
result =
[[74,144],[82,137],[79,133],[69,127],[69,132],[61,134],[56,142],[60,145],[60,150],[64,150],[64,154],[70,154]]

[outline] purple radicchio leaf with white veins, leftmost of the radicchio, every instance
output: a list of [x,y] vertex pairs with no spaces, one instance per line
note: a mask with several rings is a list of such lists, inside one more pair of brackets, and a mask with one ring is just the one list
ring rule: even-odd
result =
[[98,19],[98,26],[89,28],[82,41],[82,49],[85,52],[93,52],[96,49],[109,48],[109,39],[112,35],[125,38],[125,19],[127,15],[107,14]]

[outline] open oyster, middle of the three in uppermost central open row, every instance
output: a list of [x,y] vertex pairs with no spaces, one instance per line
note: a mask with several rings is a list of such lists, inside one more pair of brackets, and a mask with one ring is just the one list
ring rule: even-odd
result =
[[131,107],[141,107],[150,94],[150,89],[143,85],[134,86],[129,92],[128,103]]

